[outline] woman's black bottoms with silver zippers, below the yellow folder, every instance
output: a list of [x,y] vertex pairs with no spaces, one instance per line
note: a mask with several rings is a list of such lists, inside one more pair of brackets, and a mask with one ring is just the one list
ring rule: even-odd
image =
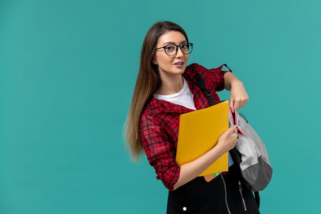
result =
[[253,193],[242,181],[242,191],[239,191],[238,178],[233,166],[229,168],[229,174],[220,175],[210,182],[206,182],[204,177],[197,177],[169,191],[166,213],[259,213]]

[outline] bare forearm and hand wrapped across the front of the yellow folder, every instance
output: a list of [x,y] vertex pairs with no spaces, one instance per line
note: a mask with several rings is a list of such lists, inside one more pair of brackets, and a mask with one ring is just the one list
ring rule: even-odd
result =
[[174,184],[174,190],[196,178],[225,152],[234,148],[236,142],[237,130],[236,125],[234,125],[219,137],[214,148],[196,160],[180,166],[180,173],[177,182]]

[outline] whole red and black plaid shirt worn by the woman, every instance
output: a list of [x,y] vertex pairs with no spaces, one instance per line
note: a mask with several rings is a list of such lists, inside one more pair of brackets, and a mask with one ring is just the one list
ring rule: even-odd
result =
[[[224,89],[224,74],[227,72],[222,71],[222,68],[223,65],[206,69],[198,64],[186,67],[183,76],[194,95],[197,110],[210,107],[211,104],[202,89],[195,84],[194,75],[196,73],[202,75],[206,88],[211,90],[214,100],[219,103],[215,91]],[[180,172],[180,167],[175,161],[179,115],[190,111],[194,110],[151,96],[141,116],[141,137],[147,159],[156,171],[156,178],[160,179],[169,190],[173,190]]]

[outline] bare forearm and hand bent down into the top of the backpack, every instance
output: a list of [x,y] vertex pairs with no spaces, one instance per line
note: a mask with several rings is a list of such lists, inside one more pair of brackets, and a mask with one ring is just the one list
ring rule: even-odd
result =
[[226,72],[224,74],[224,88],[231,91],[230,108],[233,112],[234,109],[242,108],[248,102],[249,96],[243,83],[233,73]]

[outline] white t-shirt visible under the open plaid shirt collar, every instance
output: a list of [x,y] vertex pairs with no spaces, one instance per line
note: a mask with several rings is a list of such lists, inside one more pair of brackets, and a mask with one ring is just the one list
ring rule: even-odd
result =
[[170,95],[154,94],[154,98],[156,98],[157,100],[166,100],[168,102],[175,103],[181,106],[185,106],[186,108],[196,110],[194,101],[193,101],[194,95],[192,94],[190,88],[188,87],[188,84],[184,79],[184,77],[183,77],[183,80],[184,80],[184,86],[182,90],[180,90],[179,92],[170,94]]

